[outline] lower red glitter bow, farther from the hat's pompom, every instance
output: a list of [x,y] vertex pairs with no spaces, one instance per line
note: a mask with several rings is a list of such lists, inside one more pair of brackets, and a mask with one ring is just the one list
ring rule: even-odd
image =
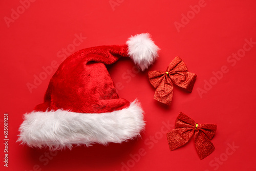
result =
[[210,141],[217,130],[216,124],[200,124],[180,113],[176,119],[175,129],[167,133],[170,151],[186,144],[194,136],[197,154],[202,160],[215,151]]

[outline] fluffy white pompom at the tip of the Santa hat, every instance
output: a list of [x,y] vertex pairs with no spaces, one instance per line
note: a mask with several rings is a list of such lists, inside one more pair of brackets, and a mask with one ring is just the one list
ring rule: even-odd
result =
[[126,41],[126,45],[128,46],[128,54],[142,71],[154,62],[158,57],[157,51],[160,50],[148,33],[131,36]]

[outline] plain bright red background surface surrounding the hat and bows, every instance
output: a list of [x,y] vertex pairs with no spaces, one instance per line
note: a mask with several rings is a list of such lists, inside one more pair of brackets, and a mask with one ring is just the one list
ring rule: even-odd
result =
[[[111,2],[117,4],[112,8]],[[245,39],[256,42],[256,3],[205,0],[197,14],[189,12],[190,6],[199,2],[35,1],[23,11],[19,1],[1,1],[2,139],[4,113],[9,114],[9,167],[3,166],[4,145],[1,143],[1,170],[255,169],[256,45],[246,45],[250,50],[236,63],[229,56],[243,52]],[[20,13],[14,19],[12,9]],[[182,14],[189,14],[190,19],[183,20],[184,25],[178,31],[174,23],[182,24]],[[13,19],[11,23],[6,22],[7,17],[8,21]],[[33,84],[34,75],[44,76],[42,67],[51,66],[52,61],[57,61],[57,65],[61,63],[63,53],[62,57],[57,53],[62,48],[72,48],[75,34],[81,33],[87,38],[75,50],[70,50],[72,52],[99,45],[121,45],[131,35],[143,32],[151,33],[161,48],[158,60],[147,71],[166,70],[169,62],[179,56],[188,71],[198,77],[191,94],[175,87],[172,105],[166,106],[153,99],[155,90],[147,79],[147,72],[129,75],[127,70],[134,66],[131,60],[121,59],[109,67],[114,82],[121,82],[119,96],[130,101],[138,98],[142,103],[146,129],[141,138],[108,146],[75,147],[48,157],[47,150],[16,143],[23,114],[42,102],[56,68],[31,92],[27,83]],[[217,80],[212,72],[219,73],[222,66],[226,66],[228,72]],[[198,89],[204,89],[205,80],[213,81],[214,85],[200,97]],[[179,112],[196,122],[218,125],[212,139],[216,147],[214,153],[200,160],[193,140],[169,151],[165,133],[174,125],[166,129],[163,122],[174,124]],[[237,146],[233,151],[229,147],[232,143]],[[138,157],[140,151],[143,153]]]

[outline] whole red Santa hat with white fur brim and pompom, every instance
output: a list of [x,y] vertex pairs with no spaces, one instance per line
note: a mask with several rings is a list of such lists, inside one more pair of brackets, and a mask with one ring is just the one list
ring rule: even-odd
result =
[[122,46],[82,49],[61,63],[50,80],[44,103],[24,115],[18,141],[60,149],[72,144],[121,143],[144,129],[137,100],[119,98],[105,65],[131,57],[143,71],[158,56],[150,34],[137,34]]

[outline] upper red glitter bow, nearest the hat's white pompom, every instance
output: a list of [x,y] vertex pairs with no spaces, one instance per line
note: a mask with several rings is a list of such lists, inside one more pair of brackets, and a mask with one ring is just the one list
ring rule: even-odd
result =
[[154,99],[170,105],[173,99],[173,84],[192,92],[197,75],[187,72],[187,66],[176,56],[166,71],[150,71],[148,78],[156,89]]

